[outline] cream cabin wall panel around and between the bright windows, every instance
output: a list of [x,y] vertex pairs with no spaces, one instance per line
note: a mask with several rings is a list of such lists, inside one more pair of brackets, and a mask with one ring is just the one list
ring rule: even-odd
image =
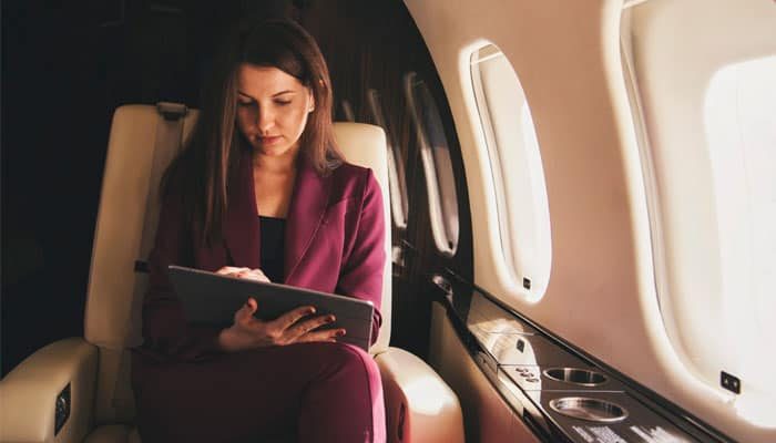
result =
[[[742,441],[773,435],[731,414],[686,371],[667,339],[623,80],[622,1],[406,3],[440,71],[462,146],[471,213],[478,214],[474,284],[724,433]],[[514,293],[494,248],[496,206],[468,64],[471,51],[488,42],[520,76],[544,165],[553,261],[548,291],[535,303]]]

